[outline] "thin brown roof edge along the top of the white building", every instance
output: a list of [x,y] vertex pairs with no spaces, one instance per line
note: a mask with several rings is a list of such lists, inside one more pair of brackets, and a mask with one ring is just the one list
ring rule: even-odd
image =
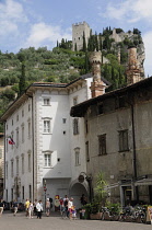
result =
[[[7,118],[10,116],[10,114],[13,114],[15,112],[15,110],[17,110],[30,96],[33,95],[33,93],[35,92],[36,89],[40,89],[40,88],[51,88],[51,89],[65,89],[68,90],[71,87],[74,87],[78,83],[81,83],[82,81],[84,81],[87,78],[92,78],[92,73],[86,73],[81,76],[80,78],[69,82],[69,83],[55,83],[55,82],[34,82],[32,83],[26,90],[25,92],[17,97],[9,107],[8,110],[3,113],[3,115],[0,118],[0,122],[5,122]],[[102,78],[102,80],[104,81],[104,83],[106,83],[107,85],[110,85],[110,83]]]

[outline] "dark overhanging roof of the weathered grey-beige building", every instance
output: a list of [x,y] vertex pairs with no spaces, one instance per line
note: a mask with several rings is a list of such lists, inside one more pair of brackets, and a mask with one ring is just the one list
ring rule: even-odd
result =
[[144,88],[145,85],[150,85],[150,84],[152,84],[152,77],[147,78],[144,80],[141,80],[141,81],[135,83],[135,84],[130,84],[130,85],[124,87],[121,89],[107,92],[107,93],[105,93],[103,95],[90,99],[90,100],[87,100],[85,102],[82,102],[80,104],[77,104],[77,105],[72,106],[70,115],[73,116],[73,117],[83,117],[85,112],[86,112],[86,110],[91,105],[94,105],[94,104],[96,104],[98,102],[102,102],[102,101],[104,101],[105,99],[108,99],[108,97],[114,97],[116,95],[120,95],[120,94],[127,93],[129,91],[135,91],[139,87],[140,88],[141,87]]

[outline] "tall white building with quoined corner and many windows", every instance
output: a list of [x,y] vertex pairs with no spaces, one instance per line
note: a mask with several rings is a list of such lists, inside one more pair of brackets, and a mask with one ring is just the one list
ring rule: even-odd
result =
[[70,117],[70,108],[91,97],[91,82],[86,74],[69,84],[33,83],[2,115],[4,200],[68,195],[79,208],[87,195],[87,182],[78,181],[86,172],[85,133],[83,118]]

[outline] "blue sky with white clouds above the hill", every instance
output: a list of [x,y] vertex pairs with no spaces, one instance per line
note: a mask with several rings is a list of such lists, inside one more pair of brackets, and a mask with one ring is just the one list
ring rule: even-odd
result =
[[152,76],[152,0],[0,0],[0,50],[52,49],[72,39],[72,24],[87,22],[95,33],[110,26],[141,31],[145,77]]

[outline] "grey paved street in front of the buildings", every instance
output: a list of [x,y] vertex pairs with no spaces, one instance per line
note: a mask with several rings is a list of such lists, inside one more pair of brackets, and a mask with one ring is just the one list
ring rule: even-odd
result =
[[58,214],[51,214],[50,217],[43,216],[37,219],[25,217],[25,212],[19,212],[15,217],[12,212],[3,212],[0,218],[0,230],[149,230],[151,225],[130,223],[119,221],[101,220],[69,220],[61,219]]

